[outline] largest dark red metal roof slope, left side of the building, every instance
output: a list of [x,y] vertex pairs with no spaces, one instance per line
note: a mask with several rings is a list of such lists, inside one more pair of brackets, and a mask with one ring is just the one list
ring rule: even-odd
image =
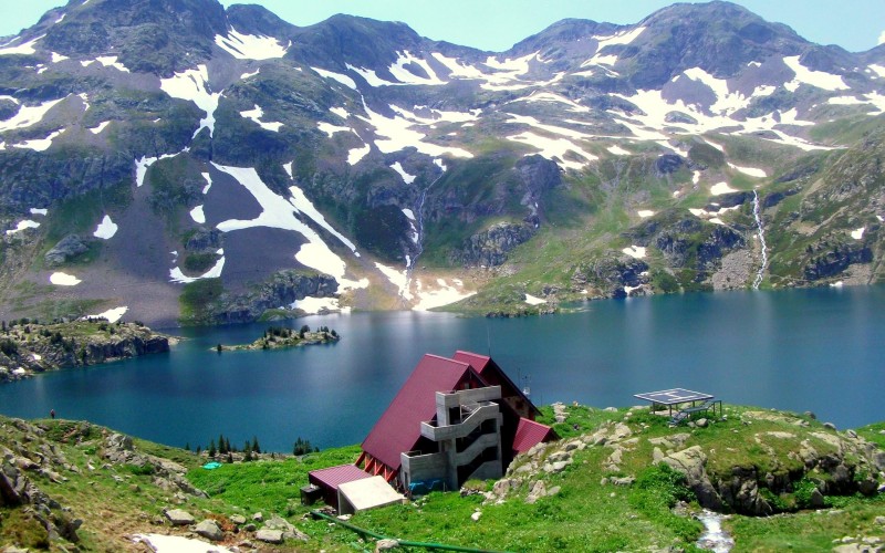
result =
[[420,424],[436,415],[436,393],[457,389],[471,374],[467,363],[426,354],[375,422],[363,441],[363,451],[399,470],[399,453],[415,449]]

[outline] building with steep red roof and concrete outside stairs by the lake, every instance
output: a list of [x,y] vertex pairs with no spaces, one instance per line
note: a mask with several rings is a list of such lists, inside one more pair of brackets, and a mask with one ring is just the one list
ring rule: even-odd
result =
[[412,493],[500,478],[514,455],[556,438],[534,421],[538,414],[491,357],[427,354],[363,441],[356,466]]

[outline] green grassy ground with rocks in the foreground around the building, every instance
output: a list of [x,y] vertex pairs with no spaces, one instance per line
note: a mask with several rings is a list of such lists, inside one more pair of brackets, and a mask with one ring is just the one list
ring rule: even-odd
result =
[[[552,421],[552,409],[544,408]],[[668,428],[662,417],[647,410],[603,410],[569,406],[564,424],[555,425],[563,442],[580,440],[606,429],[628,428],[623,459],[612,471],[612,449],[589,445],[572,451],[572,463],[558,473],[539,473],[530,480],[543,480],[558,493],[534,503],[525,498],[529,487],[516,488],[503,501],[487,502],[481,493],[431,493],[418,501],[358,513],[351,523],[373,532],[410,541],[478,547],[496,551],[658,551],[675,547],[697,550],[695,543],[702,526],[690,517],[699,509],[680,474],[652,465],[654,445],[649,439],[673,438],[686,434],[685,447],[700,446],[708,452],[710,474],[725,473],[733,466],[752,466],[774,474],[789,472],[791,455],[801,442],[816,444],[822,437],[844,432],[825,428],[809,417],[750,407],[726,406],[725,420],[707,428]],[[621,425],[621,426],[618,426]],[[37,428],[37,435],[24,435]],[[857,432],[879,448],[885,442],[885,424],[872,425]],[[197,521],[211,518],[228,530],[226,545],[250,539],[248,532],[235,533],[231,518],[261,512],[266,519],[277,514],[310,536],[306,542],[289,540],[273,551],[372,551],[373,543],[340,525],[313,520],[299,501],[299,488],[308,472],[323,467],[353,462],[357,447],[330,449],[301,458],[264,456],[252,462],[222,463],[205,470],[206,456],[135,440],[139,453],[175,461],[187,469],[186,478],[208,498],[164,489],[149,467],[108,462],[103,456],[105,428],[86,422],[39,420],[24,424],[0,417],[0,445],[30,440],[40,450],[45,445],[64,459],[64,470],[29,472],[28,477],[43,492],[69,508],[72,517],[83,520],[77,534],[81,551],[144,551],[134,544],[137,533],[189,534],[165,521],[164,509],[185,509]],[[793,438],[787,438],[787,435]],[[775,438],[772,438],[777,437]],[[816,441],[815,441],[816,440]],[[585,440],[587,441],[587,440]],[[1,450],[1,448],[0,448]],[[521,460],[514,461],[514,466]],[[635,477],[633,483],[614,486],[603,479]],[[469,482],[476,491],[490,490],[493,482]],[[726,520],[732,533],[733,551],[830,551],[834,540],[845,536],[882,535],[885,494],[826,497],[827,508],[801,510],[796,498],[785,493],[780,504],[794,505],[794,512],[768,518],[732,514]],[[685,501],[685,503],[680,503]],[[792,503],[791,503],[792,502]],[[677,504],[683,508],[674,510]],[[687,507],[686,507],[687,505]],[[480,515],[475,513],[480,512]],[[686,515],[688,513],[688,515]],[[877,521],[877,517],[879,517]],[[477,520],[475,520],[477,519]],[[0,505],[0,549],[18,545],[35,550],[64,551],[70,544],[50,541],[28,509]],[[252,543],[254,540],[250,541]]]

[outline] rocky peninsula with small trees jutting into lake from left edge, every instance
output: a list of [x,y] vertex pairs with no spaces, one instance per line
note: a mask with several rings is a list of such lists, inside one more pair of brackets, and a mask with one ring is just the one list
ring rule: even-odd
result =
[[106,319],[0,322],[0,383],[64,367],[97,365],[153,353],[166,353],[177,338],[139,322]]

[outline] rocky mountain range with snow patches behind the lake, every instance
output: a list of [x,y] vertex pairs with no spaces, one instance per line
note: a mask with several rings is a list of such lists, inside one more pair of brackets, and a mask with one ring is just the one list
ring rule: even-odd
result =
[[0,315],[514,315],[878,282],[883,79],[883,46],[718,1],[496,53],[71,0],[0,45]]

